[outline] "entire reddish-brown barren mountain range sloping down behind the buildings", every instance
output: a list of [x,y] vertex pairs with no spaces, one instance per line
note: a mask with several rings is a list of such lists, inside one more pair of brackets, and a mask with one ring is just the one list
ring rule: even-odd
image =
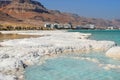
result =
[[58,10],[48,10],[34,0],[0,1],[0,28],[43,29],[43,25],[47,22],[72,23],[74,26],[95,24],[98,28],[120,27],[120,20],[86,18]]

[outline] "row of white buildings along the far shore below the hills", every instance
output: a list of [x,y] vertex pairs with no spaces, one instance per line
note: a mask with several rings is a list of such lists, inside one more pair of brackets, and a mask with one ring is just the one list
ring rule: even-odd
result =
[[97,27],[94,24],[86,24],[86,25],[77,25],[74,26],[72,24],[59,24],[59,23],[45,23],[44,24],[45,28],[49,29],[86,29],[86,30],[95,30],[95,29],[104,29],[104,30],[114,30],[114,29],[119,29],[114,26],[109,26],[109,27]]

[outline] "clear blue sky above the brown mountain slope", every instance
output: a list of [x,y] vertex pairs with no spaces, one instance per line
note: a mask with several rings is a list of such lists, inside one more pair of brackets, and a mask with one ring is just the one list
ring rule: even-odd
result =
[[38,0],[46,8],[80,16],[120,19],[120,0]]

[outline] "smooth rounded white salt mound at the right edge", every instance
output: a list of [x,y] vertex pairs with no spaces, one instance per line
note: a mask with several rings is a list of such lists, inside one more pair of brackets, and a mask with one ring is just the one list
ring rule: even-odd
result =
[[113,47],[106,52],[106,56],[113,59],[120,59],[120,47]]

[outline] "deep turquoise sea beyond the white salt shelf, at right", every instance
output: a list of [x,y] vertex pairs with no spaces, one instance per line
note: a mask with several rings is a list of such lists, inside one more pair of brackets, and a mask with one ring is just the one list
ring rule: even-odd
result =
[[115,41],[120,45],[120,30],[69,30],[70,32],[91,33],[91,39]]

